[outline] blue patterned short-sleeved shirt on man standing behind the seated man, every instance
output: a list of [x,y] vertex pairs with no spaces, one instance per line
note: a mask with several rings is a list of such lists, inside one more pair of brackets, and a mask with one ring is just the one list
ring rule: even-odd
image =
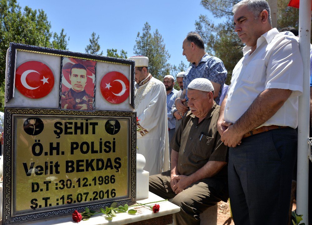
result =
[[[216,103],[219,104],[223,85],[227,79],[227,70],[225,69],[221,59],[209,56],[206,53],[197,66],[195,66],[195,63],[192,63],[192,65],[185,71],[183,78],[183,86],[186,88],[186,93],[188,93],[187,87],[189,83],[196,78],[207,78],[209,81],[221,85],[219,95],[215,98]],[[187,96],[186,99],[188,99]]]

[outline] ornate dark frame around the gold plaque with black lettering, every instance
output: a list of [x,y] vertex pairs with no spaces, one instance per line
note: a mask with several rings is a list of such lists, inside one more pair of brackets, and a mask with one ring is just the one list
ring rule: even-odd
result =
[[[109,207],[111,203],[117,202],[117,204],[134,204],[136,201],[136,112],[129,111],[69,111],[59,109],[45,109],[45,108],[18,108],[18,107],[5,107],[5,130],[4,130],[4,151],[3,151],[3,207],[2,207],[2,223],[17,224],[29,221],[35,221],[39,219],[47,219],[56,216],[69,215],[74,210],[84,211],[88,206],[90,209],[96,209],[100,207]],[[73,204],[65,204],[60,206],[54,206],[52,208],[43,208],[31,213],[20,213],[14,215],[14,117],[25,116],[64,116],[68,117],[87,117],[87,118],[110,118],[121,117],[123,119],[129,119],[129,196],[126,198],[117,198],[113,201],[96,201],[88,203],[80,203],[74,207]],[[104,200],[104,199],[103,199]]]

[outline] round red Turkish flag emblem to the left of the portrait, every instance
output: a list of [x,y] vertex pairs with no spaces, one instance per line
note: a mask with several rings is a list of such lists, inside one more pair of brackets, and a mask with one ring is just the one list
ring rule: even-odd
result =
[[15,73],[15,86],[22,95],[38,99],[48,95],[54,86],[54,75],[46,64],[28,61]]

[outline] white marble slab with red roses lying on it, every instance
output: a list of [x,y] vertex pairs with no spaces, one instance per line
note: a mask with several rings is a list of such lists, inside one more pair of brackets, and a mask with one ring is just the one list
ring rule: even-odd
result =
[[[159,196],[149,192],[149,198],[137,201],[138,204],[149,203],[154,201],[163,200]],[[180,207],[174,205],[171,202],[159,202],[157,203],[160,206],[158,213],[153,213],[153,211],[144,206],[131,207],[138,210],[136,214],[128,213],[116,213],[117,216],[112,220],[105,218],[104,214],[97,214],[92,216],[89,220],[79,222],[80,225],[101,225],[101,224],[114,224],[114,225],[123,225],[127,223],[134,223],[146,219],[156,218],[160,216],[165,216],[172,213],[177,213],[180,211]],[[22,223],[23,225],[73,225],[75,223],[71,215],[55,217],[48,220],[32,221],[27,223]]]

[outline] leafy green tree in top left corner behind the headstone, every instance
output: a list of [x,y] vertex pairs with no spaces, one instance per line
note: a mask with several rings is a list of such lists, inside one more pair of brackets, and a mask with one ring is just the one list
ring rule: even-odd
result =
[[[10,42],[66,49],[64,30],[53,34],[51,24],[42,9],[26,6],[22,12],[16,0],[0,0],[0,83],[5,78],[6,54]],[[69,40],[69,39],[68,39]]]

